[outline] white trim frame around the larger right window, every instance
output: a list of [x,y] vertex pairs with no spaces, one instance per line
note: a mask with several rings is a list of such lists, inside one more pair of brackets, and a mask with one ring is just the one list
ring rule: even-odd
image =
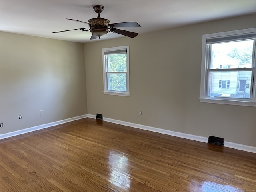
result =
[[[239,106],[254,106],[256,107],[256,74],[254,74],[253,79],[253,92],[252,99],[240,99],[240,98],[226,98],[226,99],[214,99],[212,97],[207,96],[207,80],[206,80],[206,70],[207,70],[207,62],[206,62],[206,40],[210,38],[220,38],[225,36],[236,36],[238,34],[252,34],[256,33],[256,28],[244,29],[244,30],[235,30],[229,32],[220,32],[213,34],[205,34],[202,38],[202,64],[201,64],[201,86],[200,86],[200,102],[205,103],[216,103],[216,104],[229,104],[229,105],[239,105]],[[256,51],[256,50],[254,50]],[[254,63],[256,62],[256,54],[254,55]],[[256,65],[254,66],[254,71]]]

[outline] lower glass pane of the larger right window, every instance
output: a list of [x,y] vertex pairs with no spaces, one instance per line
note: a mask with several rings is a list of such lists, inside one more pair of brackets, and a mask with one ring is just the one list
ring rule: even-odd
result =
[[252,71],[209,72],[208,96],[250,98]]

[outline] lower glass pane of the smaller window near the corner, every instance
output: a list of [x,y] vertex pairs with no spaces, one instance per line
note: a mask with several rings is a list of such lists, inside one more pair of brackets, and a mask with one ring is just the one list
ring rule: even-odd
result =
[[108,90],[126,91],[126,74],[110,73],[108,74]]

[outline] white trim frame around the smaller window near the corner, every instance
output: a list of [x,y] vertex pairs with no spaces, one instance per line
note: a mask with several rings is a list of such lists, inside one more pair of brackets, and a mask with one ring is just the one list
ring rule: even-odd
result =
[[[107,80],[107,66],[104,60],[104,52],[106,51],[115,51],[115,50],[124,50],[126,49],[126,92],[124,91],[112,91],[108,90],[108,80]],[[107,95],[117,95],[117,96],[130,96],[130,74],[129,74],[129,46],[119,46],[111,48],[102,49],[102,62],[103,62],[103,83],[104,83],[104,94]]]

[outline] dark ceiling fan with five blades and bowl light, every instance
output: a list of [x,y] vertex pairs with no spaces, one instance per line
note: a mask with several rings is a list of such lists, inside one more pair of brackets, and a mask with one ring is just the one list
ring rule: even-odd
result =
[[93,6],[93,9],[96,13],[98,13],[98,17],[89,19],[88,23],[84,22],[84,21],[66,18],[68,20],[89,24],[88,30],[86,30],[86,28],[78,28],[78,29],[57,31],[57,32],[53,32],[53,33],[60,33],[60,32],[65,32],[65,31],[72,31],[72,30],[90,31],[90,32],[92,32],[92,36],[90,39],[97,39],[97,38],[100,39],[101,36],[107,34],[108,32],[118,33],[118,34],[128,36],[131,38],[134,38],[138,35],[138,33],[114,28],[114,27],[140,27],[140,24],[138,24],[137,22],[109,23],[110,21],[108,19],[104,19],[104,18],[100,17],[100,13],[104,10],[104,6],[95,5],[95,6]]

